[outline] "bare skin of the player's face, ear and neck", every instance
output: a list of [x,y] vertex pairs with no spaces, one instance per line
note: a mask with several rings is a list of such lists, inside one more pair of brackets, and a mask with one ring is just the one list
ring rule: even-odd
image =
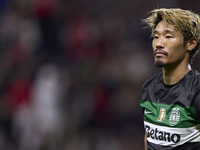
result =
[[161,21],[153,31],[152,47],[155,65],[163,68],[165,84],[172,85],[191,70],[189,55],[197,40],[184,44],[183,35],[171,24]]

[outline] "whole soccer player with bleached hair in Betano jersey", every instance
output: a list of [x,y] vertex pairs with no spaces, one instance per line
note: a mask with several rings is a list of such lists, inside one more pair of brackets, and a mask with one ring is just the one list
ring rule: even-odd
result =
[[142,86],[147,150],[200,150],[200,74],[191,69],[200,45],[200,18],[182,9],[155,9],[143,20],[152,30],[155,66]]

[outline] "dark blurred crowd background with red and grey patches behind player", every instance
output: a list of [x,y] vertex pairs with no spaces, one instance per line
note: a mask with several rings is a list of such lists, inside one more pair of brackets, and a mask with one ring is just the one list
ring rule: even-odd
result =
[[200,2],[0,0],[0,150],[143,150],[157,7]]

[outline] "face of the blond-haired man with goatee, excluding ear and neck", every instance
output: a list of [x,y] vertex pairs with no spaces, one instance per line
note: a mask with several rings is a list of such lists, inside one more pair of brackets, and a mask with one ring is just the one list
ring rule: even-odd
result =
[[171,24],[161,21],[153,31],[152,47],[155,65],[178,65],[186,59],[187,48],[183,35]]

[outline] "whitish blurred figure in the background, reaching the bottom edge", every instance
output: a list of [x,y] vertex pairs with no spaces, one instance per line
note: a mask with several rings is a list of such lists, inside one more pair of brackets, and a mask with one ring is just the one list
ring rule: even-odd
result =
[[56,65],[39,69],[32,89],[30,123],[22,131],[20,150],[57,149],[67,117],[63,118],[61,100],[68,82],[62,76]]

